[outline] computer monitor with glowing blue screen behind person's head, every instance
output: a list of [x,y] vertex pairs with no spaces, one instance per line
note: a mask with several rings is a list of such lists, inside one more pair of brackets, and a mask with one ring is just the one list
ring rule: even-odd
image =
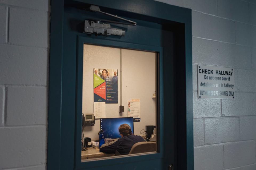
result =
[[133,117],[120,117],[120,118],[101,118],[101,130],[104,132],[105,138],[117,139],[120,138],[118,128],[122,124],[128,124],[133,130]]

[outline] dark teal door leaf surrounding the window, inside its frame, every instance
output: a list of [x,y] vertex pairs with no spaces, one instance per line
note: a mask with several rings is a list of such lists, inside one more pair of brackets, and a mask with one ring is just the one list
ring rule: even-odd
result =
[[[106,9],[108,10],[108,9]],[[138,20],[136,18],[128,18],[127,15],[126,18],[130,20],[134,20],[137,22],[136,26],[131,25],[120,25],[120,24],[112,24],[111,27],[115,28],[122,28],[126,30],[125,36],[95,36],[90,34],[81,33],[79,29],[83,29],[83,23],[86,18],[92,20],[96,20],[97,18],[106,18],[108,20],[112,18],[107,18],[105,15],[97,14],[90,11],[83,11],[79,10],[77,8],[66,8],[65,11],[65,20],[66,24],[66,30],[64,29],[64,34],[66,35],[67,41],[64,40],[64,45],[66,47],[64,48],[64,54],[67,56],[67,60],[69,60],[69,63],[74,63],[74,80],[76,79],[76,115],[80,115],[79,113],[82,113],[81,111],[81,105],[82,105],[82,63],[83,63],[83,44],[95,44],[95,45],[103,45],[103,46],[113,46],[113,47],[119,47],[119,48],[128,48],[128,49],[138,49],[138,50],[147,50],[147,51],[156,51],[159,53],[158,62],[159,62],[159,92],[163,89],[163,51],[162,51],[162,39],[159,38],[162,36],[162,34],[165,34],[166,38],[168,38],[168,41],[170,42],[170,47],[167,48],[169,51],[166,50],[166,53],[169,53],[170,59],[172,56],[170,55],[173,53],[171,51],[172,47],[172,41],[173,41],[173,32],[171,31],[164,31],[162,29],[162,25],[158,23],[153,23],[145,20]],[[111,13],[110,9],[107,11],[108,13]],[[113,12],[112,12],[113,13]],[[64,22],[65,22],[64,20]],[[81,28],[79,27],[81,24]],[[72,27],[74,28],[72,29]],[[82,30],[81,30],[82,31]],[[71,50],[70,48],[73,49]],[[72,52],[72,53],[71,53]],[[160,66],[161,65],[161,66]],[[76,76],[75,76],[76,73]],[[69,72],[69,74],[71,74]],[[173,76],[169,75],[168,79],[172,79]],[[154,81],[154,80],[153,80]],[[169,83],[169,86],[171,87],[171,83]],[[166,95],[170,95],[171,91],[167,92]],[[158,94],[158,92],[157,92]],[[76,145],[75,145],[75,155],[77,156],[77,159],[75,160],[75,168],[92,168],[92,169],[101,169],[102,167],[99,165],[104,165],[105,168],[111,169],[114,167],[120,167],[122,166],[122,169],[165,169],[163,168],[163,161],[164,161],[164,140],[168,142],[169,147],[173,147],[174,143],[174,132],[173,129],[169,128],[170,130],[166,132],[166,139],[164,139],[164,122],[163,122],[163,93],[160,92],[158,94],[159,99],[159,105],[158,105],[158,119],[159,122],[157,124],[157,127],[160,131],[159,140],[157,142],[159,146],[159,150],[155,154],[148,154],[148,155],[140,155],[140,156],[129,156],[125,158],[115,158],[115,159],[107,159],[107,160],[99,160],[99,161],[92,161],[92,162],[82,162],[81,159],[79,159],[79,155],[81,155],[81,146],[79,139],[81,138],[81,132],[79,131],[81,128],[81,125],[78,122],[81,122],[81,117],[75,118],[75,126],[77,127],[77,132],[75,135],[75,138],[77,139]],[[160,102],[161,100],[161,102]],[[169,106],[171,108],[171,106]],[[70,110],[70,113],[72,111]],[[171,112],[170,112],[171,113]],[[169,122],[173,121],[173,119],[170,119]],[[173,123],[172,123],[173,124]],[[174,150],[169,149],[165,150],[165,153],[170,159],[169,162],[174,163],[174,159],[171,161],[171,155],[174,155]],[[117,163],[119,162],[119,163]],[[152,163],[154,162],[154,163]],[[114,164],[114,165],[113,165]],[[98,167],[99,166],[99,167]]]

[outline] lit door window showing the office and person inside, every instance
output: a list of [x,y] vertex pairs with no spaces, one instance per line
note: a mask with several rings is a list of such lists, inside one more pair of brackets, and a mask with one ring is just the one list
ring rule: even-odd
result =
[[81,159],[155,153],[156,53],[84,44]]

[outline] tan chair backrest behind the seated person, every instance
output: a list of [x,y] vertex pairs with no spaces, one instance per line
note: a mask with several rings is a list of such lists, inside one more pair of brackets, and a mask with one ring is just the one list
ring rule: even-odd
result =
[[143,152],[155,152],[155,142],[138,142],[131,147],[129,154],[139,154]]

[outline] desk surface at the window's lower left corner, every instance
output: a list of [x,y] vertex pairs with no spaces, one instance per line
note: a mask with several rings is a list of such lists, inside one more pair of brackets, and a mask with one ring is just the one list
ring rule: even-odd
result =
[[99,148],[89,147],[87,151],[81,151],[81,159],[100,158],[112,156],[113,154],[105,154],[99,151]]

